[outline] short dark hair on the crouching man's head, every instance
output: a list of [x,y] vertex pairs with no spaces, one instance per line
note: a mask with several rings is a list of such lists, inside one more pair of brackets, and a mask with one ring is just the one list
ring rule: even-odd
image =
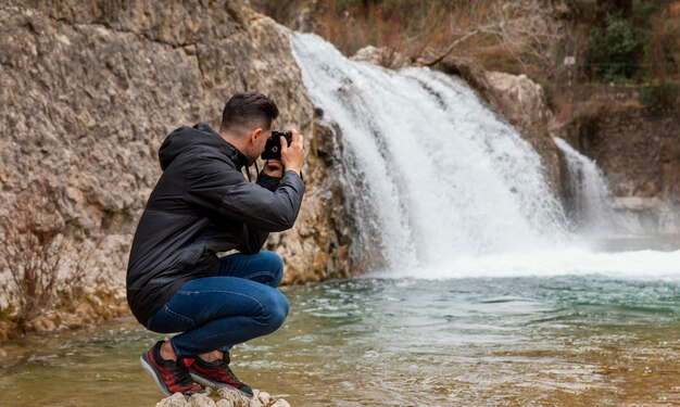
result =
[[260,92],[235,93],[224,106],[219,129],[237,135],[262,127],[268,130],[278,117],[276,103]]

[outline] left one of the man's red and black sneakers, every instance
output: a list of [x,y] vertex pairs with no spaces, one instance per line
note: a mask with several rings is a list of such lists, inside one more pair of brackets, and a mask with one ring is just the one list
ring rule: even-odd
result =
[[148,352],[141,354],[141,366],[147,370],[155,384],[166,396],[181,393],[190,396],[193,393],[203,393],[203,389],[191,380],[189,366],[193,358],[178,357],[177,361],[163,359],[161,345],[164,341],[156,342]]

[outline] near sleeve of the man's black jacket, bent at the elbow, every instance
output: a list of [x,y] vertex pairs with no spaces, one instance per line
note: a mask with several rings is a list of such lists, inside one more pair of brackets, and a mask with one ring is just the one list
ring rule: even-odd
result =
[[303,193],[304,185],[294,171],[286,171],[278,188],[269,191],[247,181],[241,173],[212,155],[197,157],[187,171],[188,200],[194,206],[263,232],[290,229]]

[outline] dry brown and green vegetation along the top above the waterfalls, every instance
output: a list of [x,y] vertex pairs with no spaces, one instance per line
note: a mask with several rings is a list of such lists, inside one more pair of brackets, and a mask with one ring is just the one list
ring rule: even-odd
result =
[[[373,44],[429,64],[453,55],[487,69],[527,74],[565,103],[571,85],[644,87],[641,102],[673,103],[680,65],[677,0],[253,0],[298,26],[308,9],[317,34],[347,55]],[[564,64],[572,56],[574,66]],[[390,61],[386,61],[389,64]],[[671,85],[667,85],[671,84]],[[673,88],[675,89],[675,88]],[[670,97],[668,94],[671,94]]]

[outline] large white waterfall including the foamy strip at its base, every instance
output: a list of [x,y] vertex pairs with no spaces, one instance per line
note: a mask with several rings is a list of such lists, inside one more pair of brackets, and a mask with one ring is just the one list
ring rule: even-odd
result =
[[465,84],[353,62],[315,35],[291,43],[314,103],[342,129],[356,199],[372,207],[357,219],[387,276],[680,275],[680,252],[579,244],[539,155]]

